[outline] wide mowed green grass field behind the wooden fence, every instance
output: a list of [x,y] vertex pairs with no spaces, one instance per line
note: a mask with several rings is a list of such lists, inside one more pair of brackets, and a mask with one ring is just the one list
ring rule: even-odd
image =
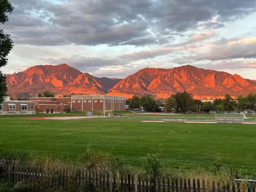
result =
[[256,127],[250,124],[154,123],[140,119],[74,119],[0,121],[0,147],[77,161],[87,147],[121,156],[142,167],[147,154],[162,150],[170,169],[213,166],[256,173]]

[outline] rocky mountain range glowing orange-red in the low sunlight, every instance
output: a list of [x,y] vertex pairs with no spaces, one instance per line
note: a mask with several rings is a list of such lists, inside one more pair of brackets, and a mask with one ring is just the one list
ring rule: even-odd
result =
[[187,91],[195,99],[223,98],[256,93],[256,81],[244,79],[222,71],[181,66],[172,69],[145,68],[123,79],[94,77],[61,64],[34,66],[7,75],[7,94],[13,97],[34,97],[44,91],[62,94],[114,94],[126,98],[151,94],[155,98],[168,98]]

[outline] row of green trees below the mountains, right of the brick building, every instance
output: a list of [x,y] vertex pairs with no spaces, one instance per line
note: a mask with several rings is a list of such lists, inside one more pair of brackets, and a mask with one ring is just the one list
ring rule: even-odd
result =
[[166,100],[155,100],[151,95],[142,97],[133,95],[132,98],[126,100],[126,105],[132,110],[148,112],[160,112],[159,107],[164,107],[164,111],[167,113],[196,113],[199,111],[209,113],[211,110],[221,113],[243,111],[244,109],[255,111],[256,94],[249,93],[246,97],[239,95],[236,99],[226,94],[223,99],[215,99],[213,102],[193,99],[193,95],[186,91],[173,94]]

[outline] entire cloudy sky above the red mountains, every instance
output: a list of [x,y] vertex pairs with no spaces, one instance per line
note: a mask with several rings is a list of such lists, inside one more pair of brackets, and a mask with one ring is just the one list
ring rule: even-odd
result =
[[9,0],[12,74],[67,63],[97,77],[193,65],[256,79],[255,0]]

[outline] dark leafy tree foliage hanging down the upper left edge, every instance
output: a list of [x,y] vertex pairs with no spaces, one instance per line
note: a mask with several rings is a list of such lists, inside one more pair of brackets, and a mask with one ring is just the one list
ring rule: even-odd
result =
[[[12,4],[7,0],[0,0],[0,23],[4,24],[9,20],[8,14],[13,11]],[[12,39],[9,34],[4,34],[4,31],[0,29],[0,67],[7,64],[7,55],[10,53],[13,47]],[[3,97],[6,94],[6,76],[0,71],[0,103],[3,102]]]

